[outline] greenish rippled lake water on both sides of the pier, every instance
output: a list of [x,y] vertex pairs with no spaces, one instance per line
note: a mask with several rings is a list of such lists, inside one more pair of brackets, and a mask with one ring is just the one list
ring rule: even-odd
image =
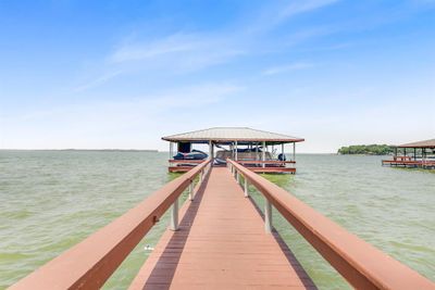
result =
[[[169,180],[167,153],[0,151],[0,289],[125,213]],[[435,280],[435,174],[380,156],[297,155],[298,173],[265,175],[349,231]],[[250,189],[261,205],[262,197]],[[107,289],[124,289],[167,224],[162,218]],[[347,283],[274,212],[274,226],[320,289]]]

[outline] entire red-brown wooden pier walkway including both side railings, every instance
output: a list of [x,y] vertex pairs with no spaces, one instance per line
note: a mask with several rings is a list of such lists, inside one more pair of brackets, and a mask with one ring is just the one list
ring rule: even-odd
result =
[[[357,289],[435,289],[289,192],[227,162],[228,167],[212,167],[211,160],[197,165],[10,289],[101,288],[170,209],[170,228],[130,289],[315,289],[274,231],[273,209]],[[264,197],[263,216],[248,185]],[[185,190],[189,199],[178,211]]]

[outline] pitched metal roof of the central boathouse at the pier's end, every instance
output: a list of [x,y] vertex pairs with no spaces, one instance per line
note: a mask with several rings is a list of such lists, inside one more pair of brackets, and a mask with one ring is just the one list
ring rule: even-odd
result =
[[183,134],[171,135],[162,138],[166,141],[266,141],[266,142],[301,142],[304,139],[284,134],[257,130],[248,127],[214,127]]

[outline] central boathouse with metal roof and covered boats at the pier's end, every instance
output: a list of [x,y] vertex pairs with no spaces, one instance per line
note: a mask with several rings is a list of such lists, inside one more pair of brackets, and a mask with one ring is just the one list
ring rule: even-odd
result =
[[[304,140],[248,127],[214,127],[162,139],[170,142],[170,172],[188,172],[210,157],[213,166],[226,166],[231,159],[257,173],[290,174],[296,172],[296,143]],[[207,144],[208,153],[194,149],[196,144]],[[291,146],[290,154],[286,144]]]

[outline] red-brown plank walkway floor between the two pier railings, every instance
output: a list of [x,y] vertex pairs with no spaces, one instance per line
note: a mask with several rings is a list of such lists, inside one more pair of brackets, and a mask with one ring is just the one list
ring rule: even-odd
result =
[[244,198],[231,172],[215,167],[178,231],[166,230],[130,289],[314,289],[279,236]]

